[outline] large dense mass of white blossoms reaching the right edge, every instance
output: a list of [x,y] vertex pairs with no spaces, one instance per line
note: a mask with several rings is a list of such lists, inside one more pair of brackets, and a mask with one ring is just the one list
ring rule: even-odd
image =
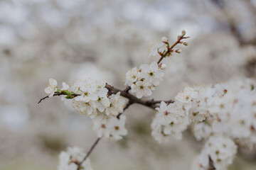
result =
[[236,153],[236,142],[256,145],[255,80],[230,81],[211,86],[186,87],[174,103],[161,102],[151,123],[151,134],[159,142],[181,139],[189,124],[197,140],[206,145],[193,169],[228,169]]

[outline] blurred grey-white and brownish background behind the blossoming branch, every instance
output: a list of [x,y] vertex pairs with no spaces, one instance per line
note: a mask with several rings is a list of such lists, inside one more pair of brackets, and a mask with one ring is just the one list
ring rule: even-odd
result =
[[[48,79],[105,79],[124,89],[128,69],[149,60],[149,47],[186,30],[188,47],[167,58],[156,99],[183,86],[256,77],[255,0],[0,0],[0,169],[57,169],[68,146],[87,151],[92,121],[60,98],[40,104]],[[129,134],[100,141],[94,169],[189,169],[201,150],[190,130],[159,145],[151,137],[154,111],[125,111]],[[256,169],[256,150],[242,148],[232,170]]]

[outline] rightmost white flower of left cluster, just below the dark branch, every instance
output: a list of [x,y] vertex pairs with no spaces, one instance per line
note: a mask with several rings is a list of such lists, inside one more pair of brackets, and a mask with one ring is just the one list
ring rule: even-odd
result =
[[120,91],[117,94],[112,94],[110,96],[110,105],[105,109],[106,115],[118,115],[124,110],[125,100],[120,96]]

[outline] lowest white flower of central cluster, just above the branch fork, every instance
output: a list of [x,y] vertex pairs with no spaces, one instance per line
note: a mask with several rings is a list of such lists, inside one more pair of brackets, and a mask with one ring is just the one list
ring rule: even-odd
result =
[[137,98],[142,98],[143,96],[151,96],[152,91],[150,89],[150,84],[148,81],[137,81],[132,84],[132,93],[135,93]]

